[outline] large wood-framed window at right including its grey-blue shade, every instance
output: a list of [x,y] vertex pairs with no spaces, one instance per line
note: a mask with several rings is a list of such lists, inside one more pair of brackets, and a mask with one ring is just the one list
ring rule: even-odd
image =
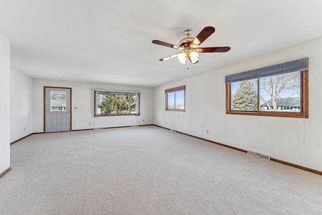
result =
[[308,118],[307,58],[225,78],[227,114]]

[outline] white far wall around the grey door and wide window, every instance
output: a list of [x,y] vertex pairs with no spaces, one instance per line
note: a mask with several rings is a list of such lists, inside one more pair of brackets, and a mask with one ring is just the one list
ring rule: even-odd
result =
[[[152,88],[34,79],[33,132],[43,132],[44,86],[72,88],[72,130],[153,124]],[[94,117],[94,89],[140,91],[140,116]],[[77,107],[77,110],[74,107]],[[91,122],[91,125],[89,125],[89,122]]]

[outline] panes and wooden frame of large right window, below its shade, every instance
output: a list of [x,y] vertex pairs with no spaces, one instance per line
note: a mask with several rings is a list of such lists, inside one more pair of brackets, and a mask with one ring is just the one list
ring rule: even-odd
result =
[[307,85],[307,70],[227,84],[226,113],[307,117]]

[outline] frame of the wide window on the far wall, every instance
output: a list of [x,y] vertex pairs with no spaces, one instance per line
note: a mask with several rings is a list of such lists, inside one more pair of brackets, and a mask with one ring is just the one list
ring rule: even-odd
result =
[[[106,93],[106,109],[108,110],[108,93],[120,93],[120,94],[128,94],[129,98],[131,98],[131,94],[136,94],[137,96],[137,100],[136,100],[136,113],[118,113],[118,114],[111,114],[111,113],[108,113],[108,111],[106,111],[106,114],[101,114],[101,113],[97,113],[97,109],[98,109],[98,106],[97,106],[97,92],[104,92]],[[138,92],[129,92],[129,91],[126,91],[126,92],[120,92],[120,91],[106,91],[106,90],[94,90],[94,116],[139,116],[140,115],[140,102],[139,102],[139,99],[140,99],[140,93]],[[129,111],[131,109],[131,105],[129,104]]]

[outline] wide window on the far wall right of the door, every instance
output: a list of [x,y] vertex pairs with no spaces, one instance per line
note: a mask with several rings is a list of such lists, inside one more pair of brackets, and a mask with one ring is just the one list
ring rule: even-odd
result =
[[140,115],[139,93],[95,91],[95,116]]

